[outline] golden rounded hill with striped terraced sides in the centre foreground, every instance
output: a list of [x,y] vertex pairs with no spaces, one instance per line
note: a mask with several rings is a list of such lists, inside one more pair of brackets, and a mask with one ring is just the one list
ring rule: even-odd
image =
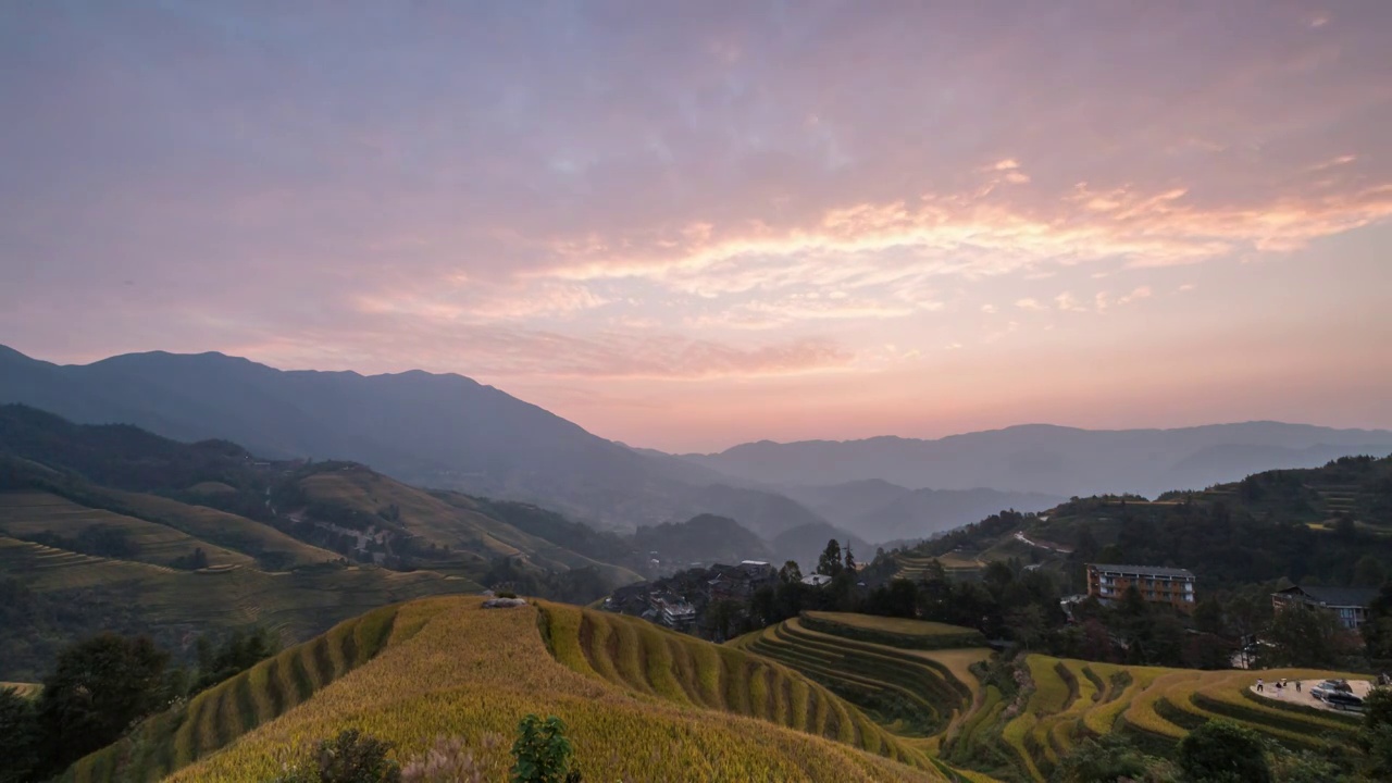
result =
[[299,743],[349,726],[400,743],[401,755],[459,734],[504,769],[507,743],[483,738],[511,736],[528,712],[567,722],[594,780],[949,779],[853,706],[757,656],[569,606],[483,610],[479,599],[441,598],[288,649],[148,720],[64,780],[178,769],[171,780],[259,782]]

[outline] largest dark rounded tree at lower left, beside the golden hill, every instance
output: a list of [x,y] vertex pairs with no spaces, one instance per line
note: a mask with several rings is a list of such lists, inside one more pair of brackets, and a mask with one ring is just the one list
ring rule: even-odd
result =
[[39,695],[49,770],[111,744],[164,706],[168,659],[148,637],[118,634],[100,634],[58,653]]

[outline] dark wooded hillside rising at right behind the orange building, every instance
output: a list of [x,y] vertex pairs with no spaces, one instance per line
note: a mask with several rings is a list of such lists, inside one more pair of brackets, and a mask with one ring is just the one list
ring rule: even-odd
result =
[[1089,560],[1183,567],[1215,588],[1279,578],[1350,585],[1360,561],[1374,573],[1392,567],[1392,457],[1267,471],[1157,500],[1070,500],[1047,514],[992,517],[891,556],[905,577],[933,559],[949,568],[1011,557],[1057,563],[1075,591]]

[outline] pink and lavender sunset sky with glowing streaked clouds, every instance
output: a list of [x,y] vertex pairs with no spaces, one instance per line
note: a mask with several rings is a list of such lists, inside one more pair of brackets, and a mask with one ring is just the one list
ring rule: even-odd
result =
[[1392,3],[0,4],[0,343],[636,446],[1392,426]]

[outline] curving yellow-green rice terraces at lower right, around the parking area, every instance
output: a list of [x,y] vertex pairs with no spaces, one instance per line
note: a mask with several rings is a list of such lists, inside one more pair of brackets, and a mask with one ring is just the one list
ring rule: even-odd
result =
[[[1199,672],[1043,655],[1005,665],[984,648],[954,644],[954,637],[972,633],[966,628],[852,617],[786,620],[728,646],[803,672],[887,731],[1002,780],[1047,780],[1059,757],[1084,737],[1111,733],[1172,755],[1187,730],[1215,718],[1292,750],[1328,748],[1347,741],[1359,726],[1357,716],[1274,702],[1249,690],[1258,676],[1315,680],[1335,676],[1331,672]],[[941,645],[923,649],[928,639]]]

